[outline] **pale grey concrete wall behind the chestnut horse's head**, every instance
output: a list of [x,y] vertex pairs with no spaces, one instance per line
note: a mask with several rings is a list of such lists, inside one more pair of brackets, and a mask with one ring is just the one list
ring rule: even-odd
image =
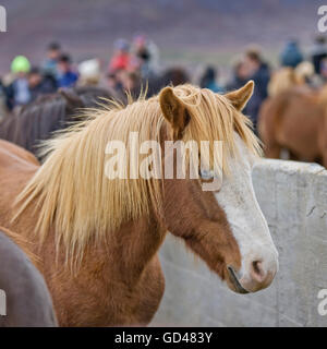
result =
[[262,160],[253,182],[279,251],[274,284],[235,294],[168,237],[160,251],[166,292],[153,326],[327,326],[327,315],[317,311],[317,293],[327,289],[327,171]]

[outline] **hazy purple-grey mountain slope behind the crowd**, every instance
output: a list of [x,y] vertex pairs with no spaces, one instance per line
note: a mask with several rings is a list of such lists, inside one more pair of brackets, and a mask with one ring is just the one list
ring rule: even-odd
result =
[[228,51],[257,43],[308,43],[319,0],[0,0],[8,33],[0,33],[0,72],[12,57],[44,56],[60,40],[78,59],[106,58],[118,37],[146,33],[162,50]]

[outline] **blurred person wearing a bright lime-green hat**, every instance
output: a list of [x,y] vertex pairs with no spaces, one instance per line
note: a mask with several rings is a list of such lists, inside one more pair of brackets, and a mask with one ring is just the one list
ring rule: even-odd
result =
[[27,74],[31,63],[25,56],[16,56],[11,63],[11,72],[14,81],[7,87],[7,106],[12,110],[16,106],[23,106],[31,101]]

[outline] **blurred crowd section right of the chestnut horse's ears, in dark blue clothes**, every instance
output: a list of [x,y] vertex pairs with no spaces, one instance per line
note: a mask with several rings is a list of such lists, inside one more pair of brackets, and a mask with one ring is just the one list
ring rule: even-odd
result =
[[[279,56],[279,67],[294,70],[298,75],[313,88],[318,88],[327,81],[327,40],[325,36],[317,36],[311,52],[304,55],[296,40],[289,40]],[[228,92],[242,87],[249,80],[255,83],[252,98],[245,110],[256,130],[259,108],[268,97],[268,85],[272,75],[272,68],[264,59],[258,47],[251,47],[237,60],[232,68],[232,76],[225,85],[217,85],[216,71],[208,68],[209,80],[201,81],[201,87],[211,88],[215,92]],[[206,74],[205,74],[206,75]]]

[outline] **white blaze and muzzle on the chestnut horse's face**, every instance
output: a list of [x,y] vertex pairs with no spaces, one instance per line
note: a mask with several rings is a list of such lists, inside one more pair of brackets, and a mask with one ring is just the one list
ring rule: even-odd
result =
[[278,252],[255,197],[251,154],[240,136],[235,136],[240,157],[230,160],[232,173],[223,179],[216,198],[240,248],[239,281],[247,291],[256,291],[272,281],[278,270]]

